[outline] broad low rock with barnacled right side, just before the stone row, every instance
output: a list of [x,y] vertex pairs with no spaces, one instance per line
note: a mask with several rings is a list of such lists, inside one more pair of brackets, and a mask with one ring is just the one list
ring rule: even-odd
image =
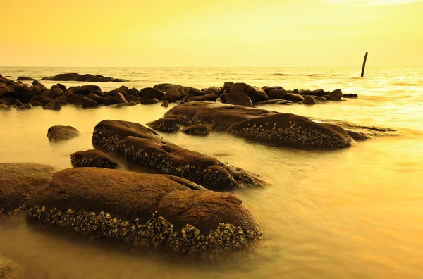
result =
[[211,124],[216,130],[227,130],[233,135],[283,145],[339,148],[355,143],[337,125],[245,106],[192,102],[174,107],[165,116],[176,116],[181,125]]

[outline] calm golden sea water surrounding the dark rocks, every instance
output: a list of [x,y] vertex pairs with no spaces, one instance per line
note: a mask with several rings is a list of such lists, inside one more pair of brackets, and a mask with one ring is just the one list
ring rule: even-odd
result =
[[[61,230],[42,230],[24,218],[0,219],[0,254],[21,263],[27,278],[423,278],[423,69],[368,68],[364,79],[357,78],[359,70],[0,67],[2,75],[15,78],[69,71],[102,74],[126,78],[130,82],[125,85],[138,89],[159,82],[202,88],[225,81],[286,89],[340,87],[345,93],[359,94],[359,99],[265,108],[385,125],[404,134],[338,151],[269,147],[224,133],[162,134],[182,147],[271,180],[264,190],[235,192],[255,214],[264,239],[255,251],[227,261],[198,263],[164,259],[149,251],[134,254]],[[0,111],[0,161],[68,168],[71,153],[92,148],[92,129],[100,120],[145,124],[165,112],[159,105]],[[50,143],[46,135],[51,125],[73,125],[82,135]],[[134,166],[122,163],[122,168]]]

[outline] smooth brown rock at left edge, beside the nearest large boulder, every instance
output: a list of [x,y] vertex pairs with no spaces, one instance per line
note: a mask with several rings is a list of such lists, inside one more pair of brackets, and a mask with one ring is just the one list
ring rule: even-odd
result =
[[37,163],[0,163],[0,212],[22,209],[30,192],[49,185],[56,171]]

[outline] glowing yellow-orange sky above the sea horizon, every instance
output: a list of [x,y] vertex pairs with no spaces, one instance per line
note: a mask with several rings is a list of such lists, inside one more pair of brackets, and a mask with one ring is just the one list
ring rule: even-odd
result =
[[423,0],[0,0],[0,66],[423,67]]

